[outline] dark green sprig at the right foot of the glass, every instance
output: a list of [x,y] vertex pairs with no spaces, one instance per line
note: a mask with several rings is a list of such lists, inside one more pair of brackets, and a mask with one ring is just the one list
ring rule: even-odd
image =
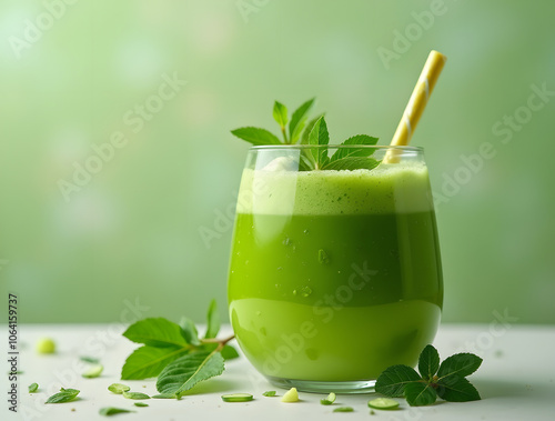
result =
[[457,353],[440,364],[440,354],[426,345],[418,358],[418,372],[408,365],[392,365],[376,380],[375,391],[391,398],[405,397],[411,407],[432,404],[437,397],[450,402],[480,400],[480,393],[465,378],[475,372],[482,359]]

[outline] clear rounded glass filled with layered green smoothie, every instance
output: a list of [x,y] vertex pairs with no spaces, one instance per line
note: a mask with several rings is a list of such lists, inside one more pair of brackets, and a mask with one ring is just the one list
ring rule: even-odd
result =
[[[319,153],[362,149],[380,164],[306,167]],[[365,392],[387,367],[414,367],[435,337],[443,304],[423,150],[251,148],[228,294],[241,349],[275,385]]]

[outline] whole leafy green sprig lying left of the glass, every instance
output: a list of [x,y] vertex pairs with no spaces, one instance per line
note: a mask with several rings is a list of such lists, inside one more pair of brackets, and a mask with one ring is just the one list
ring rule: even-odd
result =
[[163,318],[150,318],[131,324],[123,333],[143,344],[125,360],[123,380],[158,377],[157,389],[164,397],[180,398],[198,382],[223,372],[224,360],[238,358],[228,342],[234,337],[216,339],[220,317],[215,300],[206,314],[206,332],[199,337],[194,322],[183,318],[180,324]]

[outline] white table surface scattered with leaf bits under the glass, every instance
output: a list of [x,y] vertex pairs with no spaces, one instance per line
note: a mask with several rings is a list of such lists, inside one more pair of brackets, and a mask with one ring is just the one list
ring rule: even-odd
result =
[[[371,394],[337,395],[335,405],[320,404],[322,394],[300,393],[301,402],[282,403],[279,398],[262,397],[266,390],[283,390],[271,385],[241,357],[226,363],[225,372],[198,385],[181,400],[150,399],[148,408],[112,394],[107,387],[123,382],[132,391],[157,394],[155,380],[120,381],[119,374],[127,355],[137,344],[121,337],[121,325],[41,324],[19,327],[18,378],[19,412],[8,410],[7,399],[0,401],[0,420],[104,420],[103,407],[137,411],[112,417],[119,420],[555,420],[555,327],[522,327],[493,324],[441,327],[434,345],[442,360],[454,352],[475,352],[484,359],[480,370],[468,380],[483,400],[465,403],[440,401],[431,407],[411,408],[400,399],[401,409],[370,414],[366,405]],[[2,348],[7,359],[7,327],[2,327]],[[225,327],[223,333],[230,332]],[[52,355],[39,355],[34,343],[40,337],[51,337],[58,344]],[[80,355],[98,357],[104,372],[97,379],[83,379],[85,363]],[[4,363],[4,373],[9,369]],[[2,395],[8,395],[8,379],[3,377]],[[39,393],[29,394],[28,385],[39,383]],[[43,404],[60,387],[81,390],[79,400],[62,404]],[[251,402],[224,403],[223,393],[249,392]],[[337,405],[350,405],[355,412],[333,413]]]

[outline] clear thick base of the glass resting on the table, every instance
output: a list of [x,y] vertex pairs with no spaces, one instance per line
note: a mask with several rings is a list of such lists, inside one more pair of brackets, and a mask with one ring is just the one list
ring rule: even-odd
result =
[[375,380],[354,380],[354,381],[312,381],[282,379],[271,375],[265,377],[272,384],[291,389],[296,388],[301,392],[312,393],[370,393],[374,391]]

